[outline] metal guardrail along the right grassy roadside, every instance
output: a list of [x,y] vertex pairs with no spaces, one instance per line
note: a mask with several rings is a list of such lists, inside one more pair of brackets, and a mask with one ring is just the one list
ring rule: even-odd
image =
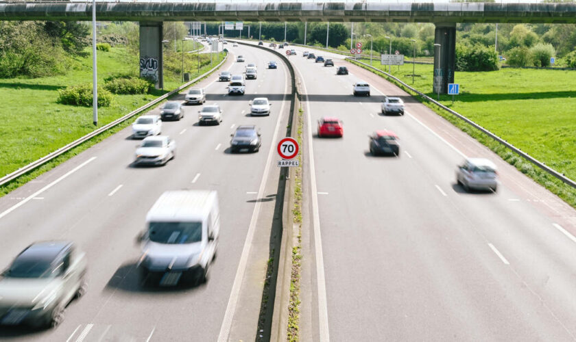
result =
[[422,96],[422,98],[424,98],[425,100],[434,103],[435,105],[437,105],[438,107],[444,109],[445,111],[448,111],[448,113],[452,114],[453,116],[456,116],[457,118],[464,120],[464,122],[470,124],[472,127],[474,127],[475,129],[478,129],[479,131],[481,131],[482,133],[484,133],[485,135],[488,135],[489,137],[492,137],[492,139],[496,140],[497,142],[499,142],[500,144],[503,144],[504,146],[506,146],[507,148],[509,148],[510,150],[514,151],[514,153],[520,155],[520,157],[523,157],[524,159],[526,159],[527,161],[530,161],[531,163],[533,163],[534,165],[538,166],[538,168],[541,168],[542,170],[548,172],[549,174],[551,174],[552,176],[556,177],[557,179],[560,179],[560,181],[564,182],[567,185],[570,185],[571,187],[576,188],[576,182],[573,181],[572,179],[569,179],[568,177],[564,176],[564,174],[557,172],[556,170],[554,170],[553,168],[550,168],[549,166],[547,166],[545,163],[542,163],[542,161],[539,161],[538,159],[531,157],[528,153],[523,152],[522,150],[520,150],[520,148],[517,148],[516,146],[509,144],[506,140],[503,140],[501,137],[499,137],[498,135],[488,131],[488,129],[485,129],[484,127],[481,127],[479,124],[477,124],[476,122],[466,118],[466,116],[463,116],[461,114],[459,114],[457,111],[453,111],[452,109],[446,107],[445,105],[442,105],[442,103],[439,103],[437,101],[435,101],[433,98],[427,96],[426,94],[412,88],[411,86],[408,86],[406,83],[404,83],[403,81],[400,81],[400,79],[390,75],[389,73],[386,73],[383,70],[380,70],[379,68],[374,68],[374,66],[370,66],[368,64],[365,64],[363,62],[359,62],[357,60],[353,60],[352,58],[346,57],[346,60],[350,60],[351,62],[356,62],[359,64],[362,64],[363,66],[366,66],[368,68],[371,68],[372,70],[376,70],[379,73],[383,73],[385,74],[387,77],[390,77],[391,79],[394,79],[394,81],[402,84],[403,86],[405,86],[406,88],[408,88],[409,90],[416,92],[418,95]]

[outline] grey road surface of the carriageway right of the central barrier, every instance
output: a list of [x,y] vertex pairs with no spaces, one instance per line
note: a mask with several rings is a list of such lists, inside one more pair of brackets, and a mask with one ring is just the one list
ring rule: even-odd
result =
[[[576,337],[576,213],[380,77],[335,75],[298,55],[304,86],[304,222],[300,331],[313,341],[571,341]],[[352,96],[352,83],[372,96]],[[405,116],[382,116],[384,95]],[[344,121],[318,138],[316,121]],[[368,134],[400,137],[398,157],[372,157]],[[497,193],[455,183],[465,156],[499,167]],[[325,279],[325,281],[322,281]],[[307,339],[308,340],[308,339]]]

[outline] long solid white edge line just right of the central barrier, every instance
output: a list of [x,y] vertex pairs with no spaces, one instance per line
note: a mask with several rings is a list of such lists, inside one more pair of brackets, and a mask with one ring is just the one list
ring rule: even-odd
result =
[[[304,77],[298,68],[294,68],[300,80],[302,81],[302,87],[304,88],[304,94],[306,94],[306,116],[308,124],[308,159],[310,167],[310,185],[312,196],[312,222],[314,228],[314,241],[315,241],[315,259],[316,259],[316,282],[318,291],[318,323],[320,332],[320,342],[330,341],[330,332],[328,331],[328,303],[326,301],[326,276],[324,275],[324,257],[322,256],[322,236],[320,234],[320,214],[318,211],[318,194],[316,188],[316,171],[314,167],[314,150],[312,148],[312,119],[310,110],[310,100],[308,98],[308,90],[306,88],[306,83],[304,82]],[[276,140],[274,140],[276,141]]]

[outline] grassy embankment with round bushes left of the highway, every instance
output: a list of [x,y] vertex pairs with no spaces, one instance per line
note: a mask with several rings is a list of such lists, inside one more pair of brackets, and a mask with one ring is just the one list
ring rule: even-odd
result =
[[[110,75],[130,74],[137,76],[139,73],[139,57],[132,55],[125,48],[115,47],[109,52],[99,51],[97,57],[99,84],[104,84],[104,78]],[[208,56],[201,55],[200,57],[206,58]],[[221,54],[218,61],[223,57],[224,54]],[[194,63],[194,66],[197,65],[195,64],[196,55],[190,54],[187,58],[189,58],[189,63]],[[215,64],[218,61],[215,59]],[[211,66],[208,62],[207,66],[200,68],[200,74],[210,69]],[[197,68],[192,68],[190,72],[191,79],[200,75],[197,73]],[[182,84],[179,75],[166,74],[164,90],[154,90],[151,94],[115,95],[115,101],[110,107],[98,109],[99,127],[128,114]],[[84,57],[73,57],[67,75],[37,79],[0,79],[0,97],[2,98],[0,102],[0,120],[2,122],[0,127],[0,146],[2,146],[0,149],[0,160],[2,160],[0,176],[9,174],[95,129],[92,124],[92,107],[76,107],[56,103],[59,89],[91,82],[92,54],[90,49],[86,49]],[[0,196],[80,153],[104,137],[119,131],[130,122],[130,120],[124,122],[110,132],[103,133],[90,142],[78,146],[73,151],[58,157],[58,159],[30,172],[30,174],[0,187]]]

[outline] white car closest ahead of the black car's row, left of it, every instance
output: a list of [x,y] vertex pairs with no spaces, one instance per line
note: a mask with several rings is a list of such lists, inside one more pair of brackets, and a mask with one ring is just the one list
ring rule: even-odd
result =
[[136,148],[134,163],[164,165],[174,157],[176,157],[176,142],[167,135],[158,135],[142,140],[142,144]]

